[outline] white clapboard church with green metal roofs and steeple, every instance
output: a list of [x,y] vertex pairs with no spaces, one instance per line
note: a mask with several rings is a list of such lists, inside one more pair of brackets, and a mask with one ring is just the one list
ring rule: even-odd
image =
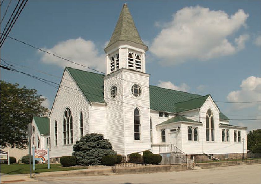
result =
[[123,156],[173,148],[188,155],[242,154],[246,127],[230,125],[211,95],[150,85],[147,50],[124,4],[104,49],[106,75],[64,70],[49,116],[51,158],[72,155],[88,133],[102,133]]

